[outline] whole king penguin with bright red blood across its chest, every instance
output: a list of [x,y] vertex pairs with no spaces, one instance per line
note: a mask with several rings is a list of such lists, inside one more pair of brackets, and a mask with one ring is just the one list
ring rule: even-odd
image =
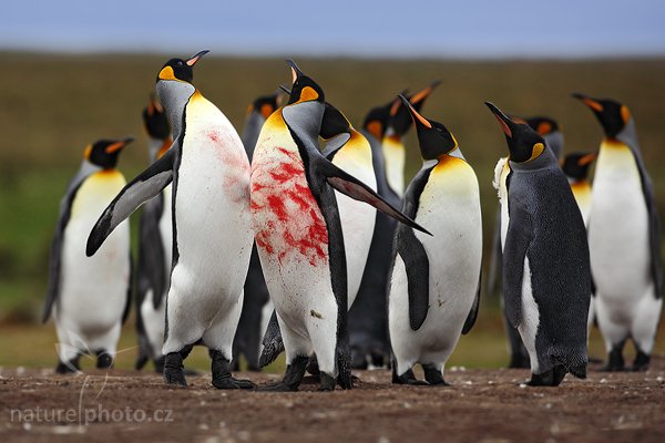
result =
[[264,124],[252,162],[255,240],[287,364],[283,381],[262,390],[297,390],[313,351],[320,390],[334,390],[337,380],[350,389],[346,253],[334,190],[419,226],[324,157],[318,144],[324,91],[289,64],[289,102]]

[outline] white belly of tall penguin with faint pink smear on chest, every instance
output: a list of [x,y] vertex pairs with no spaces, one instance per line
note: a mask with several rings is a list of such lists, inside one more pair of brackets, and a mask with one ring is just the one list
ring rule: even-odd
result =
[[[203,97],[187,106],[175,223],[178,259],[171,297],[183,316],[212,321],[241,298],[252,251],[249,163],[239,136]],[[170,308],[171,312],[171,308]]]

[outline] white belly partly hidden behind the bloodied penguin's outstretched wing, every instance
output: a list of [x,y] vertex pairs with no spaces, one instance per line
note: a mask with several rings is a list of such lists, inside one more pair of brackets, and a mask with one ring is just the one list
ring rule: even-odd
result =
[[[349,173],[360,182],[377,190],[377,179],[371,164],[371,150],[367,144],[365,155],[357,152],[348,152],[342,147],[334,158],[334,164]],[[346,195],[335,192],[339,218],[344,234],[344,247],[346,250],[347,276],[348,276],[348,305],[354,303],[360,280],[367,264],[369,245],[374,235],[376,209],[366,203],[355,200]]]

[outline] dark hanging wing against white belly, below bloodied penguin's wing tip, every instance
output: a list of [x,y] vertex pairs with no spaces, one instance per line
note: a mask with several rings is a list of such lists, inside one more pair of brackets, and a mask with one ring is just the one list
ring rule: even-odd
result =
[[397,228],[397,254],[407,270],[409,323],[417,331],[429,311],[429,258],[413,229],[403,225]]

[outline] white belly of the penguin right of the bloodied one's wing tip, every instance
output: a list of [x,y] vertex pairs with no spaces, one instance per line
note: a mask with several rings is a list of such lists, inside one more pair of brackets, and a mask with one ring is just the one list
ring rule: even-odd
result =
[[[444,363],[475,298],[482,255],[478,182],[463,161],[454,163],[457,165],[432,172],[416,217],[416,222],[432,233],[432,236],[416,234],[430,265],[429,310],[418,331],[411,330],[409,323],[405,265],[400,257],[396,260],[389,326],[398,365]],[[406,369],[399,368],[402,372]]]

